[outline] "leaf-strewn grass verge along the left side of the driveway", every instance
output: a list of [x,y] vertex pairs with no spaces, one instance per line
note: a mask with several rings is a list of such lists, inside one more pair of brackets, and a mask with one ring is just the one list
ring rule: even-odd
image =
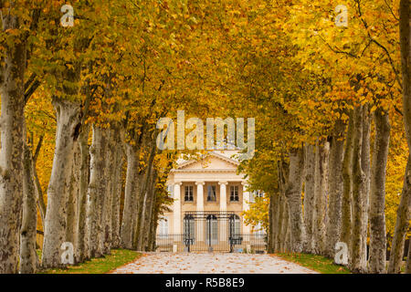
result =
[[124,266],[139,258],[142,254],[128,249],[113,249],[111,255],[92,258],[79,265],[67,268],[54,268],[39,271],[38,274],[106,274],[117,267]]

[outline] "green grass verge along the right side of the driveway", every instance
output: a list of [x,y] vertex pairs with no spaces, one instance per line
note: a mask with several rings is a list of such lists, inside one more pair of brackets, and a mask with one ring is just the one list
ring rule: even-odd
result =
[[275,254],[282,259],[305,266],[321,274],[350,274],[345,266],[335,265],[330,258],[309,254]]

